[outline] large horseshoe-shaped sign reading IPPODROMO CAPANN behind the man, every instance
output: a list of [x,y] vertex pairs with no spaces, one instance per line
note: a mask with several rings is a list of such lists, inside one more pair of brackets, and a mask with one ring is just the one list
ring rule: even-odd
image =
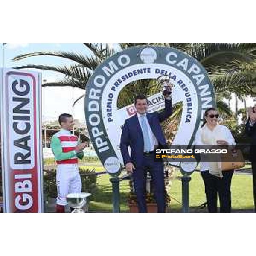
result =
[[[182,104],[180,125],[172,145],[191,148],[204,111],[215,106],[212,84],[204,67],[191,56],[167,47],[133,47],[104,61],[88,81],[86,124],[93,147],[107,172],[119,175],[123,165],[119,149],[122,125],[136,113],[134,105],[117,108],[122,89],[137,80],[169,76],[174,84],[172,105]],[[135,95],[131,95],[134,99]],[[148,112],[164,108],[162,93],[148,96]],[[172,163],[192,172],[197,163]]]

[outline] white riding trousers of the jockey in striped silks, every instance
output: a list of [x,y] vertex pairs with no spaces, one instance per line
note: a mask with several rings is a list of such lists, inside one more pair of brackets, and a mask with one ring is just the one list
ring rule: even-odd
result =
[[66,197],[70,193],[81,193],[81,177],[77,164],[59,164],[57,166],[57,204],[67,205]]

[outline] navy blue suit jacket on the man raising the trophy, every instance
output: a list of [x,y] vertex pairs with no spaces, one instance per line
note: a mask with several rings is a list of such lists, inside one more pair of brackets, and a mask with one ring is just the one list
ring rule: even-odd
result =
[[[165,109],[161,113],[147,113],[148,123],[160,145],[166,145],[166,139],[160,123],[171,115],[171,100],[165,100]],[[128,153],[128,147],[131,148],[131,156]],[[120,149],[125,165],[129,162],[132,162],[135,168],[143,165],[144,140],[137,115],[125,120],[122,128]]]

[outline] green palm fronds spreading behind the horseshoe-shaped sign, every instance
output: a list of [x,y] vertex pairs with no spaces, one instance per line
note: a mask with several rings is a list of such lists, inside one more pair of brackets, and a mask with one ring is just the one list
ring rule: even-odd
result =
[[[51,70],[64,75],[62,80],[44,83],[43,86],[71,86],[85,89],[88,79],[90,79],[90,76],[93,74],[93,70],[106,58],[122,49],[138,45],[145,45],[145,43],[123,43],[116,45],[114,48],[110,44],[84,43],[84,47],[90,52],[88,55],[81,55],[75,52],[27,53],[15,57],[14,61],[33,56],[48,55],[66,58],[72,61],[73,64],[62,67],[28,64],[15,68]],[[256,87],[256,44],[152,43],[148,45],[174,47],[200,61],[209,73],[209,77],[215,87],[217,106],[224,116],[232,116],[233,114],[229,106],[224,102],[224,99],[228,99],[231,93],[234,93],[239,99],[242,99],[244,96],[251,94],[252,88]],[[143,86],[141,86],[142,84]],[[146,95],[154,93],[154,91],[158,89],[155,85],[154,81],[136,81],[133,84],[129,84],[119,94],[118,106],[122,107],[131,104],[133,99],[131,99],[130,95],[134,94],[134,92],[141,93],[141,90],[143,90],[143,93]],[[180,116],[180,113],[181,106],[179,105],[176,107],[173,116],[177,118]]]

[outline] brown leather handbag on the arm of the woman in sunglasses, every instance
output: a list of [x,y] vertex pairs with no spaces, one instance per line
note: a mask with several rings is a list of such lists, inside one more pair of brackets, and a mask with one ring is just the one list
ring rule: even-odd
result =
[[245,166],[244,156],[240,149],[229,149],[221,154],[221,170],[231,171]]

